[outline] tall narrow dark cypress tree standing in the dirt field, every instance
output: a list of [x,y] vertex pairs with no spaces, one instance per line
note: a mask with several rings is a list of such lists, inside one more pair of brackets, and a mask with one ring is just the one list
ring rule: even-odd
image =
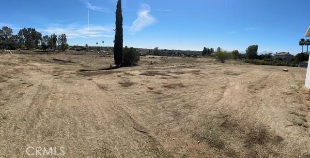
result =
[[116,6],[116,28],[114,39],[114,63],[121,65],[123,62],[123,15],[122,15],[122,0],[117,1]]

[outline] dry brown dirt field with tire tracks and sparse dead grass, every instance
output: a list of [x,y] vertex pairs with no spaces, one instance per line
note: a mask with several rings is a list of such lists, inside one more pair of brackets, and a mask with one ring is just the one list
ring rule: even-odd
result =
[[310,157],[305,68],[141,57],[99,70],[111,64],[0,54],[0,158],[29,146],[72,158]]

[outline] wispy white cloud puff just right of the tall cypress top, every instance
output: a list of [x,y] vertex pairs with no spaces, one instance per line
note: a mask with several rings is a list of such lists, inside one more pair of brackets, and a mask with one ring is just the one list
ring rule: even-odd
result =
[[151,8],[147,4],[141,5],[141,10],[138,12],[138,18],[132,23],[129,33],[134,35],[141,29],[148,27],[156,22],[155,17],[150,15]]

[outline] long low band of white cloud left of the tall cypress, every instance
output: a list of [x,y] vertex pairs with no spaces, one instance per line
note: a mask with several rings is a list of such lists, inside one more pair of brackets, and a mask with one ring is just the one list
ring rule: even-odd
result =
[[114,27],[112,26],[99,26],[99,25],[76,25],[72,24],[67,27],[52,26],[47,29],[40,29],[48,34],[60,35],[65,33],[67,38],[95,38],[95,37],[113,37]]

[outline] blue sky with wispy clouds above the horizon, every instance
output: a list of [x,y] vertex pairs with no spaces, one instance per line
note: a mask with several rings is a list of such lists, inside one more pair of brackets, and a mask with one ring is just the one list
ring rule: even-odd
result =
[[[70,45],[112,46],[117,0],[2,0],[0,26],[66,33]],[[301,52],[309,0],[123,0],[124,45]],[[88,23],[88,11],[90,13]]]

